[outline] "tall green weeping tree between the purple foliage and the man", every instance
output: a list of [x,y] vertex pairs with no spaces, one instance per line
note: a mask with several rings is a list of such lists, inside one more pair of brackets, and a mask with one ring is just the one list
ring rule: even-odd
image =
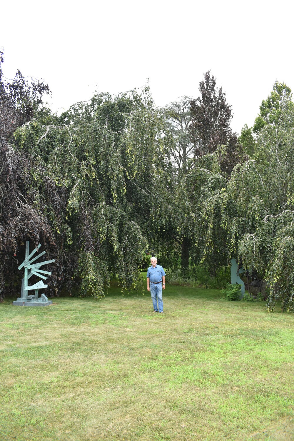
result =
[[64,113],[59,126],[17,134],[19,145],[24,138],[41,138],[33,142],[34,152],[67,191],[61,234],[75,259],[69,271],[81,295],[102,295],[113,274],[124,288],[138,282],[146,194],[153,194],[150,170],[164,168],[161,116],[152,106],[148,89],[113,98],[98,94]]

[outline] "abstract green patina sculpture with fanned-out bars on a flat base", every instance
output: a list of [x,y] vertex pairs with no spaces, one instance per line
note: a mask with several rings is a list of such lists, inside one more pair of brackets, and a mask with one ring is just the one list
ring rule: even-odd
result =
[[[52,300],[48,300],[46,295],[44,293],[41,294],[41,297],[39,297],[39,289],[41,288],[47,288],[48,285],[45,285],[43,280],[40,280],[39,282],[35,283],[34,285],[29,286],[29,279],[33,275],[40,277],[41,279],[46,280],[48,276],[51,276],[51,273],[49,271],[44,271],[40,269],[41,266],[46,265],[48,263],[55,262],[55,259],[52,260],[46,260],[45,262],[38,262],[33,263],[35,260],[43,256],[45,254],[45,251],[38,254],[36,257],[32,258],[33,255],[37,252],[37,250],[41,247],[41,243],[30,253],[30,242],[26,241],[26,258],[22,262],[21,265],[19,265],[19,270],[24,267],[25,269],[25,275],[22,278],[22,291],[21,296],[12,302],[13,305],[17,306],[48,306],[52,304]],[[29,254],[30,253],[30,254]],[[45,276],[45,274],[47,274]],[[29,291],[35,290],[34,295],[29,295]]]

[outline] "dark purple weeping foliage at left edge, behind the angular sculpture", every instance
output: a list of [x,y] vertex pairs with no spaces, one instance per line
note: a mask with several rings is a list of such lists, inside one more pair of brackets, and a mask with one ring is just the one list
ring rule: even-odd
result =
[[[3,61],[0,51],[0,302],[5,291],[15,292],[17,267],[24,259],[24,252],[17,255],[19,246],[29,238],[35,243],[48,243],[48,247],[55,245],[48,219],[38,206],[39,194],[51,206],[63,199],[63,192],[51,179],[44,179],[41,190],[36,187],[34,176],[43,174],[44,169],[36,167],[30,155],[11,145],[16,127],[40,111],[43,95],[49,93],[48,85],[42,80],[24,78],[20,71],[11,82],[5,80]],[[61,270],[56,263],[53,285]],[[18,288],[20,291],[20,285]]]

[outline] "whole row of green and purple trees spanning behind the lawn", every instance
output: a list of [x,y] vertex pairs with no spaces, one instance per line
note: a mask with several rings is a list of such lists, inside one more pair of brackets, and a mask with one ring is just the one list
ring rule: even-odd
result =
[[268,308],[293,306],[294,105],[275,82],[253,127],[230,127],[222,87],[156,108],[149,88],[99,93],[61,116],[48,85],[0,59],[0,299],[17,294],[24,243],[56,258],[51,294],[103,295],[113,276],[136,287],[146,249],[183,276],[236,257],[266,278]]

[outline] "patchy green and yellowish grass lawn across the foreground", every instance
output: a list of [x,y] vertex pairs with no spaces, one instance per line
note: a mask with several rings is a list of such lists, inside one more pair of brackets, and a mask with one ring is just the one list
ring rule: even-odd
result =
[[294,440],[294,316],[219,291],[0,304],[1,440]]

